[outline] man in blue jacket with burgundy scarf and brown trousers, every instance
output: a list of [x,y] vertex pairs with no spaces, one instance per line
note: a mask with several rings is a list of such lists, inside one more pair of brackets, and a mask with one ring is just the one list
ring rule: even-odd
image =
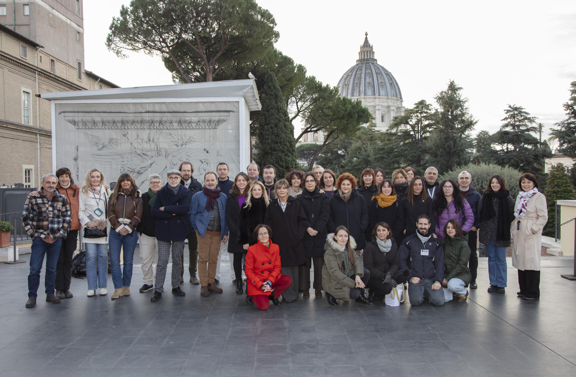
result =
[[214,277],[220,243],[228,241],[225,215],[227,196],[221,193],[217,185],[216,173],[204,174],[204,187],[192,196],[188,211],[188,218],[198,239],[198,277],[202,296],[208,296],[208,291],[222,293],[214,284]]

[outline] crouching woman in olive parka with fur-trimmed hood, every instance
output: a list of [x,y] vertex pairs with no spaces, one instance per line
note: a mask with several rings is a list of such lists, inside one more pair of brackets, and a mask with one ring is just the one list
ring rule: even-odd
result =
[[322,287],[331,305],[338,305],[336,299],[374,305],[364,295],[364,287],[370,279],[370,271],[364,268],[362,259],[354,251],[356,242],[348,229],[340,225],[334,233],[328,234],[324,245],[324,265],[322,266]]

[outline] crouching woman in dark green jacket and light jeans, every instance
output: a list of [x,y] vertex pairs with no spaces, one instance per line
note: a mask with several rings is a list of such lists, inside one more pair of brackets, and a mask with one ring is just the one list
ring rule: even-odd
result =
[[458,302],[468,299],[468,284],[472,275],[468,269],[470,247],[468,246],[468,233],[462,230],[457,220],[449,220],[444,227],[444,234],[448,237],[444,242],[444,299],[452,300],[453,294],[458,295]]

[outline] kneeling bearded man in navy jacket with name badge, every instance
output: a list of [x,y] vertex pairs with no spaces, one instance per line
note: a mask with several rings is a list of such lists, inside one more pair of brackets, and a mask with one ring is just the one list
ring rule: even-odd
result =
[[432,237],[430,218],[420,215],[416,220],[418,231],[404,238],[400,246],[400,270],[410,271],[408,275],[408,297],[410,304],[418,306],[428,297],[436,306],[444,305],[444,250],[437,238]]

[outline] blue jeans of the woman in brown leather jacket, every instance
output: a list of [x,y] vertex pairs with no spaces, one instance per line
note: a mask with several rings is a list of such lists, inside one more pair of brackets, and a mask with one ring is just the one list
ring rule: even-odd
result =
[[[127,235],[120,235],[117,231],[110,230],[110,240],[108,247],[110,249],[110,269],[112,271],[112,283],[114,289],[130,287],[132,280],[132,261],[134,261],[134,249],[138,242],[138,233],[132,231]],[[120,269],[120,250],[123,250],[124,271]]]

